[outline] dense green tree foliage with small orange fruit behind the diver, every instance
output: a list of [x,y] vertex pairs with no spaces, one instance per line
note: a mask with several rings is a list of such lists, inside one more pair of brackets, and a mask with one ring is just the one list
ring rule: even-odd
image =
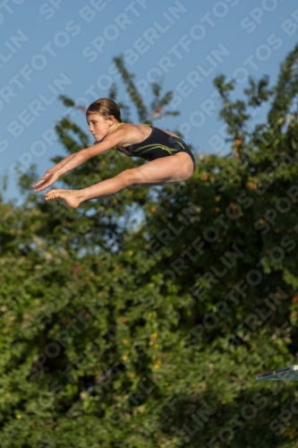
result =
[[[188,182],[69,210],[29,192],[32,168],[24,204],[2,199],[2,447],[295,446],[294,383],[255,376],[297,357],[297,51],[276,86],[251,79],[241,101],[215,80],[231,151],[200,157]],[[147,106],[115,65],[140,122],[155,123],[171,93],[153,85]],[[252,126],[263,103],[268,120]],[[69,117],[56,131],[66,155],[89,144]],[[140,163],[110,151],[63,185]]]

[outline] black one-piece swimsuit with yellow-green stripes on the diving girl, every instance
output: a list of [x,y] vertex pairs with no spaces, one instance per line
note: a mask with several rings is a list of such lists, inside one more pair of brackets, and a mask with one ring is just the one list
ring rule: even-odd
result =
[[177,152],[187,152],[192,158],[193,171],[195,169],[195,159],[192,151],[179,137],[165,133],[158,127],[150,126],[151,134],[140,143],[131,144],[125,147],[125,151],[118,146],[115,148],[129,157],[140,157],[145,160],[160,159],[161,157],[174,156]]

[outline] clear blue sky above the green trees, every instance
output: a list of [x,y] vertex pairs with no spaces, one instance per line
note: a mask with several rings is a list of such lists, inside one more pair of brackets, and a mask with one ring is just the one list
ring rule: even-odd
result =
[[[0,176],[9,177],[4,198],[19,202],[15,164],[23,171],[36,164],[39,178],[53,166],[51,158],[65,154],[53,131],[66,111],[57,96],[88,106],[106,97],[116,82],[119,99],[125,100],[112,61],[123,53],[148,104],[150,82],[162,77],[164,91],[175,91],[171,108],[180,116],[157,125],[179,128],[197,151],[228,151],[212,81],[219,73],[235,77],[236,94],[249,75],[269,74],[276,82],[280,64],[297,42],[298,5],[293,0],[4,0],[0,27]],[[73,119],[88,132],[81,112]],[[265,110],[255,119],[265,119]]]

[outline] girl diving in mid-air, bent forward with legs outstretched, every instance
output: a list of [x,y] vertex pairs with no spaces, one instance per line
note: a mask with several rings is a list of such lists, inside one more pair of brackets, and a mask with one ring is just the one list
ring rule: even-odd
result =
[[48,169],[45,176],[33,185],[35,192],[44,190],[64,173],[110,149],[149,162],[125,169],[115,177],[81,190],[50,190],[45,195],[46,201],[59,199],[75,209],[83,201],[107,197],[127,186],[177,184],[192,177],[195,160],[192,151],[178,135],[154,126],[122,123],[120,109],[112,99],[97,99],[90,104],[86,116],[89,131],[96,141],[89,148],[71,154]]

